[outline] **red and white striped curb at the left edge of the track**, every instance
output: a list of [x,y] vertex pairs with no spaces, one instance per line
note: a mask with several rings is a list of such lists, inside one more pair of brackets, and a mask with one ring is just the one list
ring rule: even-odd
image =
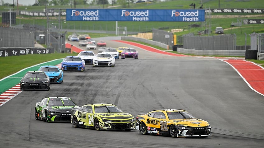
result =
[[0,106],[11,100],[13,97],[20,94],[22,91],[20,90],[20,84],[8,89],[0,95]]

